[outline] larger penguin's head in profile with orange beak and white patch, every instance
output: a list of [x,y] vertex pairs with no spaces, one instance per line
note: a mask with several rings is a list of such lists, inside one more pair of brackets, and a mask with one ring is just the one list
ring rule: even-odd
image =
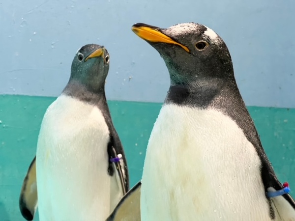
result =
[[132,30],[164,59],[172,85],[206,82],[210,78],[234,78],[226,44],[204,25],[183,23],[158,28],[137,23]]

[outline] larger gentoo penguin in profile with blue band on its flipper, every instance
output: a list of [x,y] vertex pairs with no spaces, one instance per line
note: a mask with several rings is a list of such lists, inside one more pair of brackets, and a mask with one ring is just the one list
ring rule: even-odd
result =
[[132,30],[164,59],[171,85],[148,141],[142,184],[108,220],[295,221],[290,188],[266,157],[221,37],[195,23]]

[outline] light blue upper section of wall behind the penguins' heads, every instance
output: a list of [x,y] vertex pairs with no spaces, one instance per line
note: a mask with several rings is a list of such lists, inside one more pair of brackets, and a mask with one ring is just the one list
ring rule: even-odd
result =
[[162,102],[169,77],[137,22],[202,23],[227,43],[247,105],[295,108],[294,0],[0,0],[0,93],[57,96],[77,49],[105,45],[108,99]]

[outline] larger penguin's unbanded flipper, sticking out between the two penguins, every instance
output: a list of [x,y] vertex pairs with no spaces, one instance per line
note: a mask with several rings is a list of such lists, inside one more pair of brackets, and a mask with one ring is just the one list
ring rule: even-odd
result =
[[106,221],[141,221],[140,193],[141,181],[121,198]]

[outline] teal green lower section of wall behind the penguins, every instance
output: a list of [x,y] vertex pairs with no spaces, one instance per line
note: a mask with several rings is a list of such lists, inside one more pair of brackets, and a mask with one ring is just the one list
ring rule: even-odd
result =
[[[35,155],[43,114],[54,100],[53,97],[0,95],[0,221],[24,220],[18,207],[21,185]],[[133,186],[141,178],[149,134],[161,104],[109,101],[109,106],[125,148]],[[280,181],[289,181],[292,194],[295,109],[248,109],[266,154]]]

